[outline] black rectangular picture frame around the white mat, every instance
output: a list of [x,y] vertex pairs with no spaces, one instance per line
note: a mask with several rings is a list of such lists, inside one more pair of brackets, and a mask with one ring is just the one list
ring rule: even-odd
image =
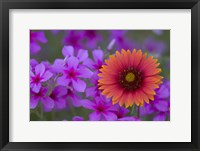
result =
[[[191,9],[191,142],[9,142],[9,9]],[[0,0],[0,148],[1,150],[200,150],[200,2],[199,0]],[[67,137],[67,136],[66,136]]]

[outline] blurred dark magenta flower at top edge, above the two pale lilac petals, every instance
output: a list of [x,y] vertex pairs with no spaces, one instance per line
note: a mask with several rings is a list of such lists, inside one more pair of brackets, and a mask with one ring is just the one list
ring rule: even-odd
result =
[[82,47],[81,40],[83,38],[83,34],[81,31],[69,31],[65,35],[63,39],[64,45],[72,45],[75,49],[80,49]]

